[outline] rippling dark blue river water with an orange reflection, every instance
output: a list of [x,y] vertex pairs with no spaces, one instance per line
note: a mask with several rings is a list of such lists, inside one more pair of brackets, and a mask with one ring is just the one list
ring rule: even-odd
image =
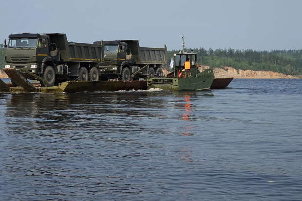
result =
[[301,200],[302,80],[0,94],[1,200]]

